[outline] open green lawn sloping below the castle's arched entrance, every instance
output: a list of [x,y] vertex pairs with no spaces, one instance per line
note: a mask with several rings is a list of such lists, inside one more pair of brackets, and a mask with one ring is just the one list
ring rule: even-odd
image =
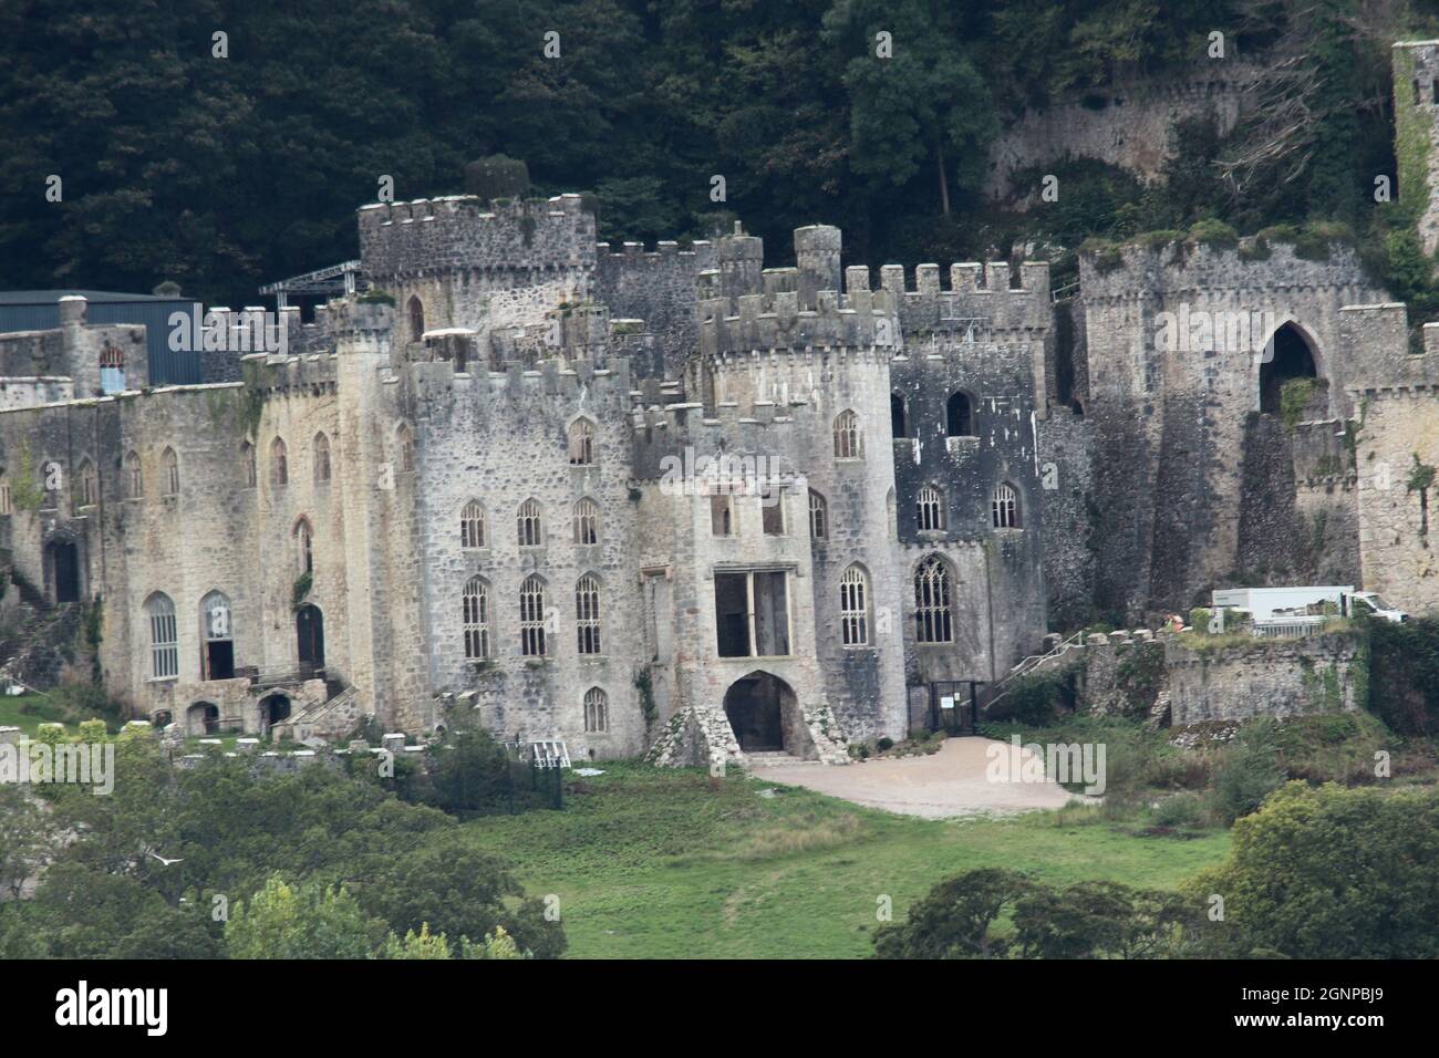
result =
[[895,918],[940,878],[1012,867],[1050,882],[1174,887],[1229,833],[1140,836],[1097,812],[932,822],[809,790],[609,763],[564,812],[466,823],[531,895],[557,894],[576,957],[866,956],[878,898]]

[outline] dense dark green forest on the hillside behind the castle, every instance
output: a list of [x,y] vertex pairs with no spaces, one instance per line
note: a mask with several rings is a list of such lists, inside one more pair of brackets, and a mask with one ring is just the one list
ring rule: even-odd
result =
[[[1324,220],[1367,246],[1397,297],[1426,302],[1429,269],[1399,206],[1374,203],[1374,177],[1396,170],[1389,45],[1439,35],[1433,9],[7,0],[0,286],[174,281],[212,304],[253,304],[262,282],[354,256],[354,210],[380,177],[401,200],[453,193],[466,163],[504,154],[528,164],[534,194],[593,193],[609,239],[702,238],[740,217],[783,263],[789,230],[823,222],[871,265],[1038,243],[1063,268],[1086,238]],[[1229,58],[1275,75],[1227,140],[1186,130],[1153,186],[1071,161],[1050,167],[1062,191],[1043,207],[980,197],[1006,122],[1212,62],[1215,32]],[[892,58],[876,59],[878,33]],[[52,174],[60,202],[46,200]]]

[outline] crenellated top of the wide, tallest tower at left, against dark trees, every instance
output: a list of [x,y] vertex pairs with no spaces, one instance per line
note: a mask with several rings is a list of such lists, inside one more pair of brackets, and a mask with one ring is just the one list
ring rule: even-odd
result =
[[445,269],[593,271],[594,214],[578,194],[494,202],[466,194],[364,206],[360,259],[373,281]]

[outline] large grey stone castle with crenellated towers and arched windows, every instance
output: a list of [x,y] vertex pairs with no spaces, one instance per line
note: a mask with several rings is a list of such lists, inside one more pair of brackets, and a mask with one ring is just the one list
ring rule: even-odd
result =
[[576,194],[358,226],[370,292],[204,384],[148,387],[81,298],[0,335],[0,606],[72,615],[138,717],[840,761],[1216,586],[1439,605],[1439,330],[1341,245],[1094,252],[1056,298],[1039,262],[876,284],[827,226],[790,268],[613,250]]

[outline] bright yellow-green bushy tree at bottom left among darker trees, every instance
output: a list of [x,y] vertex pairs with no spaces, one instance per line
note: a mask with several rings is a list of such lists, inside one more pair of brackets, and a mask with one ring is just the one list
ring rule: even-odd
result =
[[230,959],[368,959],[384,936],[342,887],[291,887],[278,874],[224,924]]

